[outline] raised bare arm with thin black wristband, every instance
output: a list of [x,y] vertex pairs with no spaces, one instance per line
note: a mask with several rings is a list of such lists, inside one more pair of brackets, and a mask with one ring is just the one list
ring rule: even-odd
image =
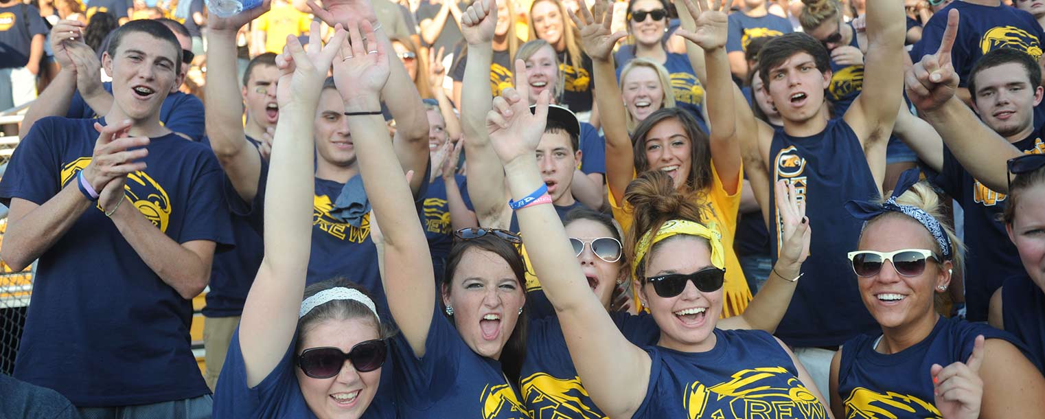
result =
[[[361,19],[358,23],[358,28],[349,26],[351,42],[342,45],[341,57],[334,62],[334,83],[346,113],[379,111],[380,92],[386,82],[392,83],[387,51],[393,49],[374,33],[369,20]],[[361,31],[366,34],[366,45]],[[359,156],[363,183],[367,190],[379,192],[367,197],[384,237],[381,280],[389,309],[414,354],[421,357],[435,310],[436,285],[413,192],[388,142],[388,129],[380,115],[349,115],[348,127]],[[416,172],[414,178],[418,178]]]

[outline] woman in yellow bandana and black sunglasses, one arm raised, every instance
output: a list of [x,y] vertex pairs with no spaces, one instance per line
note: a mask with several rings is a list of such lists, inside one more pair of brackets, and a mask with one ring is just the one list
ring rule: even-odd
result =
[[[596,16],[604,7],[598,3]],[[525,74],[518,76],[526,79]],[[624,418],[713,417],[723,411],[741,417],[756,412],[828,417],[816,388],[805,385],[812,382],[809,375],[783,343],[763,331],[716,329],[725,265],[719,234],[692,219],[670,219],[671,211],[687,200],[660,200],[644,187],[629,191],[632,203],[663,211],[640,215],[652,223],[636,239],[632,270],[660,333],[656,346],[645,348],[625,339],[587,292],[585,275],[570,257],[566,234],[554,209],[544,205],[547,189],[531,155],[549,115],[549,95],[540,96],[535,114],[526,95],[525,89],[512,89],[494,99],[487,125],[512,197],[525,203],[516,211],[534,269],[544,279],[580,379],[600,410]],[[664,174],[648,177],[659,179],[658,191],[675,186]],[[646,207],[643,202],[653,203]],[[792,201],[788,208],[802,207]],[[792,215],[789,232],[805,230],[802,215]],[[636,226],[647,225],[637,220]],[[791,266],[785,274],[796,272],[797,266]]]

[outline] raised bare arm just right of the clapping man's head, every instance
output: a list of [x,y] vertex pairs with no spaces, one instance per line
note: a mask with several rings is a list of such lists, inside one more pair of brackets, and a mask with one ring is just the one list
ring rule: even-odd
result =
[[[245,202],[254,201],[261,176],[261,156],[243,133],[243,99],[236,80],[236,33],[239,28],[269,11],[271,0],[260,7],[229,18],[210,17],[207,27],[208,83],[204,108],[207,137],[217,162]],[[312,26],[317,30],[319,24]],[[259,139],[260,140],[260,139]]]

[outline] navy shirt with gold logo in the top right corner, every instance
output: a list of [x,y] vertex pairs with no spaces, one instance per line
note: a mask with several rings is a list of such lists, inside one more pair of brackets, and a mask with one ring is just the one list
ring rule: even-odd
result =
[[951,64],[960,77],[959,86],[966,87],[973,65],[995,49],[1018,49],[1029,53],[1036,61],[1041,56],[1045,32],[1030,14],[1004,3],[984,6],[955,1],[926,22],[922,28],[922,40],[911,49],[911,61],[918,63],[922,56],[936,53],[947,29],[947,14],[952,8],[961,14],[958,38],[951,49]]

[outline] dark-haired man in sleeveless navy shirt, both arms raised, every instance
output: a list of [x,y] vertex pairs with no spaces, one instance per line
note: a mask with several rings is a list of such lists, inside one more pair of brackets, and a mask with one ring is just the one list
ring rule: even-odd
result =
[[[728,31],[726,16],[707,7],[690,7],[691,3],[683,2],[696,24],[683,27],[695,29],[680,34],[704,49],[709,78],[727,75],[720,46]],[[783,130],[756,119],[733,85],[704,84],[713,133],[740,143],[747,179],[769,226],[770,254],[777,255],[782,240],[780,216],[765,204],[772,202],[773,182],[794,184],[812,214],[813,230],[830,232],[813,239],[807,263],[816,269],[805,272],[775,333],[795,348],[823,389],[833,356],[830,349],[875,328],[874,319],[860,303],[856,282],[839,280],[852,278],[844,251],[856,247],[860,234],[860,223],[841,205],[850,199],[881,194],[886,143],[903,86],[902,67],[896,65],[904,53],[903,13],[900,0],[877,1],[867,7],[864,89],[840,118],[829,119],[825,99],[832,79],[831,55],[806,33],[773,38],[759,53],[764,89],[780,111]]]

